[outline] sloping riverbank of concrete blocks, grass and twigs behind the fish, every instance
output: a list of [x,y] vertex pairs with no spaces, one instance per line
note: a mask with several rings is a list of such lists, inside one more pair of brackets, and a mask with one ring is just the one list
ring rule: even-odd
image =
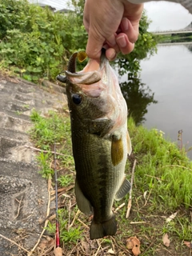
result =
[[[141,242],[140,250],[144,256],[170,254],[184,256],[190,253],[186,244],[190,244],[191,240],[192,163],[186,157],[184,150],[179,150],[178,146],[163,138],[161,131],[135,126],[133,119],[130,118],[128,127],[133,152],[126,166],[126,176],[129,180],[134,160],[136,160],[130,217],[126,218],[129,202],[129,194],[127,194],[120,202],[114,203],[114,212],[118,220],[117,234],[114,237],[90,241],[90,217],[79,212],[74,196],[74,159],[65,94],[58,94],[47,87],[39,88],[23,80],[21,85],[17,78],[15,78],[16,84],[13,83],[11,86],[11,82],[5,82],[6,79],[14,81],[14,78],[2,78],[4,81],[0,86],[4,104],[2,109],[7,111],[9,118],[5,122],[6,115],[2,115],[1,125],[6,127],[6,137],[10,134],[10,130],[14,131],[13,136],[16,134],[18,137],[17,140],[14,137],[4,139],[5,142],[9,142],[6,144],[2,143],[3,140],[1,141],[2,154],[9,158],[0,162],[1,174],[10,175],[10,178],[6,178],[5,181],[8,181],[7,184],[10,187],[14,187],[11,191],[3,190],[2,197],[5,199],[15,192],[16,198],[10,200],[8,197],[7,199],[10,212],[14,207],[14,211],[11,212],[14,215],[11,218],[7,212],[6,203],[3,204],[5,205],[3,225],[12,223],[10,228],[14,231],[8,232],[8,229],[1,228],[0,234],[4,235],[4,238],[1,236],[2,253],[27,255],[35,246],[31,255],[54,255],[54,138],[58,173],[58,219],[64,255],[131,255],[131,250],[126,248],[126,240],[133,236],[137,236]],[[17,94],[14,94],[14,91]],[[48,109],[53,109],[53,105],[54,110],[47,113]],[[18,119],[22,118],[24,120],[18,122]],[[26,156],[25,144],[23,144],[28,137],[26,124],[31,127],[31,129],[27,128],[27,134],[30,129],[30,148],[27,147],[26,150],[30,150],[30,154],[33,154],[34,161],[31,166],[33,170],[29,169],[30,164],[25,164],[24,160],[19,164],[20,158],[17,157],[19,152],[20,156]],[[21,136],[25,138],[23,141]],[[10,165],[11,162],[12,175],[7,173],[8,169],[5,168],[5,164]],[[34,182],[39,184],[40,181],[41,186],[34,186]],[[41,197],[39,190],[43,192]],[[36,191],[36,198],[33,197],[34,191]],[[11,196],[13,197],[14,194]],[[30,198],[33,199],[30,200]],[[11,205],[10,202],[12,202]],[[39,210],[36,214],[37,209],[41,207],[43,210]],[[27,214],[25,210],[28,210]],[[34,228],[29,230],[28,219],[30,221],[34,215],[35,221],[29,224],[33,223]],[[38,239],[42,231],[45,233],[41,239]],[[170,238],[169,247],[164,246],[166,234]],[[7,241],[5,237],[10,240]],[[13,243],[14,246],[9,247]]]

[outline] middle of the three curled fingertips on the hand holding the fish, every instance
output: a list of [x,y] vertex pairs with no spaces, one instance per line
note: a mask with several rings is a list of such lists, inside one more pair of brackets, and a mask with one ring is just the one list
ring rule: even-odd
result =
[[130,42],[127,35],[124,33],[117,35],[116,42],[122,54],[130,54],[130,52],[134,50],[134,43]]

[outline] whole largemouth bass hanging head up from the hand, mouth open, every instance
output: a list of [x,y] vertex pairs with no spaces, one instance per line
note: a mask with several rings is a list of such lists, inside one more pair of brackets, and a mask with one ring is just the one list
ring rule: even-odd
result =
[[124,171],[131,142],[126,101],[105,53],[100,63],[90,59],[78,73],[77,56],[71,56],[66,70],[75,194],[79,210],[94,214],[90,224],[90,239],[94,239],[116,233],[112,206],[114,199],[120,200],[130,190]]

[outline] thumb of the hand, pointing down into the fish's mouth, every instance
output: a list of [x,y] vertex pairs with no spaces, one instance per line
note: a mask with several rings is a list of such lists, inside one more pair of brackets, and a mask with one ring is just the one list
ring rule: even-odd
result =
[[99,59],[104,42],[105,38],[103,38],[100,34],[96,34],[94,31],[89,30],[88,41],[86,44],[86,54],[88,57]]

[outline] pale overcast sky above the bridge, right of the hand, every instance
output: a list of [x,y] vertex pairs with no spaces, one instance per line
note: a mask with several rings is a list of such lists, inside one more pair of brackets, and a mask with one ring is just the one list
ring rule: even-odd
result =
[[146,2],[144,7],[152,23],[150,31],[180,30],[192,22],[192,14],[174,2]]

